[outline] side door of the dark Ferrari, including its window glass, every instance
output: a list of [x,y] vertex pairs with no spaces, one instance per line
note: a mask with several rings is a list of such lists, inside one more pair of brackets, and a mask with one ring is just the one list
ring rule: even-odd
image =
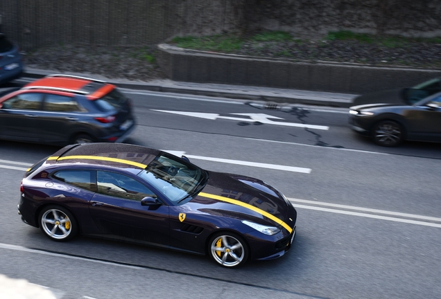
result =
[[144,197],[156,197],[146,185],[124,174],[100,170],[96,183],[98,190],[89,212],[101,233],[169,246],[168,206],[141,206]]

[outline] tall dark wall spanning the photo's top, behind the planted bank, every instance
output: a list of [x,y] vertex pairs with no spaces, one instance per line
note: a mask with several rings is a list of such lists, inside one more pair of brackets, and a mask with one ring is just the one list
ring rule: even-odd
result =
[[1,30],[24,49],[153,45],[259,29],[441,36],[440,0],[1,0],[0,15]]

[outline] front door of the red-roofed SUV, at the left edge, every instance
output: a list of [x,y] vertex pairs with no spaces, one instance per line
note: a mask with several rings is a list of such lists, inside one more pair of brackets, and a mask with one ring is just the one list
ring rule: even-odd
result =
[[0,135],[17,141],[38,141],[35,120],[42,109],[42,93],[26,92],[2,102]]

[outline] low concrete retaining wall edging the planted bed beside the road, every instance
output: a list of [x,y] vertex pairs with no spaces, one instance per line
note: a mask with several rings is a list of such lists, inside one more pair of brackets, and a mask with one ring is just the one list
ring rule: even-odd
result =
[[175,81],[239,84],[338,93],[367,93],[411,87],[441,71],[307,63],[189,51],[160,44],[158,62]]

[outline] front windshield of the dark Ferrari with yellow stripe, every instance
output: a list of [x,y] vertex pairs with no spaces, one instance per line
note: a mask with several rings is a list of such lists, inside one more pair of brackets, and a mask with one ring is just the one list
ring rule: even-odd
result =
[[193,196],[207,180],[207,172],[168,155],[157,156],[138,176],[153,185],[173,203]]

